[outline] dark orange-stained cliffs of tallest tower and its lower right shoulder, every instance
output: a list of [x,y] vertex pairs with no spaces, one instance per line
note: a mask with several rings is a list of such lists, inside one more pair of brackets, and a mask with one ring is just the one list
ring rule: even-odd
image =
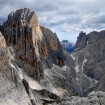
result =
[[40,29],[32,10],[11,12],[2,25],[2,33],[7,45],[13,46],[17,63],[29,76],[37,80],[43,78],[43,61],[47,67],[52,67],[53,63],[64,65],[65,57],[57,35],[47,28]]

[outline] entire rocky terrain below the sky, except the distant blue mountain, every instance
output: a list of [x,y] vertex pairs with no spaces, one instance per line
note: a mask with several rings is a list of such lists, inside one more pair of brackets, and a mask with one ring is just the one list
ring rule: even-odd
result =
[[11,12],[0,31],[0,105],[104,105],[104,31],[81,32],[72,54],[28,8]]

